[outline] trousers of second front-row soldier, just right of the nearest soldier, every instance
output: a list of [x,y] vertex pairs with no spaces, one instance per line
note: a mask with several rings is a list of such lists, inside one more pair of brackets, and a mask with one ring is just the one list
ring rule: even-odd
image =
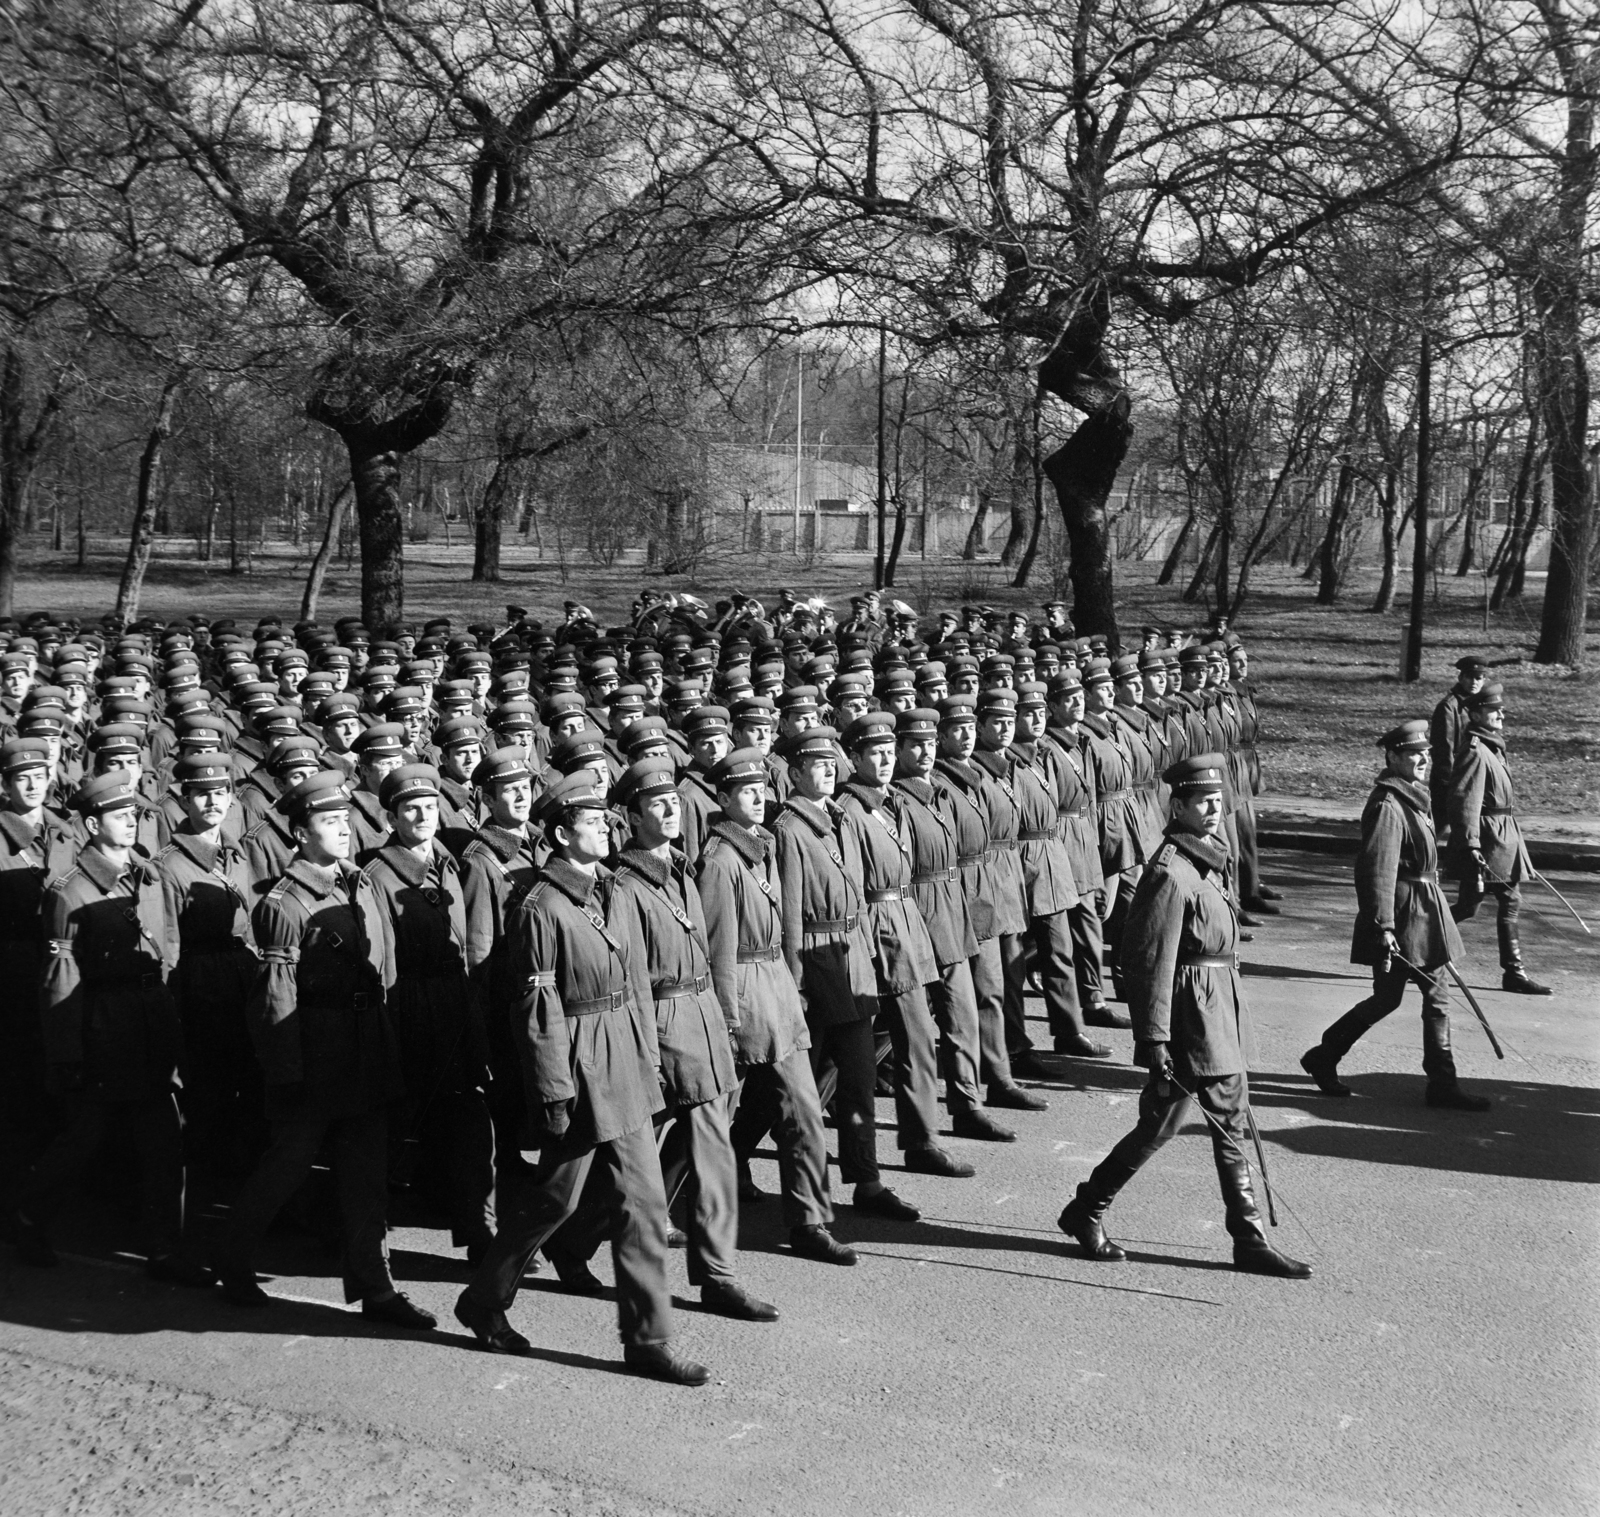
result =
[[[674,1106],[656,1117],[656,1151],[667,1208],[688,1186],[690,1283],[734,1277],[739,1250],[739,1165],[733,1157],[730,1122],[734,1093],[725,1090],[698,1106]],[[670,1123],[670,1125],[667,1125]],[[661,1136],[666,1128],[666,1136]],[[590,1170],[578,1210],[546,1245],[546,1253],[589,1261],[605,1242],[611,1211],[605,1203],[603,1176]]]

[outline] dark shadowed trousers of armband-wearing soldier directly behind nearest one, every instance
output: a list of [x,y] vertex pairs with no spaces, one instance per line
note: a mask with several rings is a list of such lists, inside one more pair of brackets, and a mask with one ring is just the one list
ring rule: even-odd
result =
[[306,1183],[322,1146],[333,1152],[339,1186],[339,1223],[344,1231],[344,1299],[386,1296],[389,1274],[389,1114],[330,1112],[312,1103],[306,1111],[274,1120],[272,1139],[256,1173],[234,1199],[214,1261],[227,1274],[250,1274],[272,1219]]

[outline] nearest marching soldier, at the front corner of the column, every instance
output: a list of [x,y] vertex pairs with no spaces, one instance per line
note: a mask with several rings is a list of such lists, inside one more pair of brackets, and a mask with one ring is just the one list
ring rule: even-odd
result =
[[667,1197],[651,1119],[662,1109],[656,1019],[642,971],[605,920],[610,850],[605,800],[589,775],[566,775],[539,797],[552,858],[507,923],[510,1015],[526,1106],[538,1133],[531,1181],[501,1205],[488,1255],[456,1301],[456,1319],[496,1354],[531,1354],[506,1317],[533,1255],[578,1210],[590,1171],[614,1210],[618,1325],[624,1363],[640,1375],[702,1386],[710,1371],[672,1347]]

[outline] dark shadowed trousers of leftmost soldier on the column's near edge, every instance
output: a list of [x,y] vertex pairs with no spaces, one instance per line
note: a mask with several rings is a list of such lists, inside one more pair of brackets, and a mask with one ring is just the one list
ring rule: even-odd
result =
[[45,1226],[67,1186],[94,1162],[115,1128],[139,1160],[139,1224],[152,1259],[176,1253],[184,1226],[184,1136],[170,1095],[106,1101],[82,1093],[62,1099],[66,1123],[40,1155],[18,1197],[18,1210]]

